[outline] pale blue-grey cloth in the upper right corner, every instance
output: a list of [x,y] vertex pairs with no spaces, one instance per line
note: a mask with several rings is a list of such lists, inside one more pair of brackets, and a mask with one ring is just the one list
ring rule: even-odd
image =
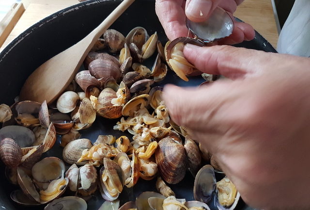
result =
[[310,57],[310,0],[295,0],[280,32],[277,50]]

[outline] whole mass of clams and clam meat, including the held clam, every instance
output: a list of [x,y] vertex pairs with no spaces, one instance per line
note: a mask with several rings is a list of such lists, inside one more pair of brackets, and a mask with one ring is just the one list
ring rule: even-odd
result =
[[[215,28],[202,37],[200,27],[186,20],[195,38],[180,37],[165,47],[157,32],[150,36],[142,27],[126,36],[109,29],[88,53],[85,70],[77,73],[57,101],[47,105],[16,97],[11,107],[1,104],[0,158],[9,181],[20,187],[11,193],[12,200],[23,206],[45,204],[45,210],[86,210],[86,201],[99,191],[103,198],[99,210],[210,210],[212,199],[218,209],[233,210],[240,195],[228,178],[215,181],[212,166],[201,168],[210,163],[210,154],[190,138],[186,128],[171,121],[162,87],[156,85],[166,77],[168,66],[185,81],[198,71],[184,57],[186,43],[205,46],[231,33],[230,17],[221,9],[217,13],[221,15],[210,19],[229,22],[226,33],[217,33],[218,25],[211,21],[204,26]],[[153,54],[149,68],[143,62]],[[215,80],[212,75],[204,77]],[[127,134],[98,135],[95,141],[81,138],[79,131],[90,128],[98,117],[118,119],[113,129]],[[57,134],[63,161],[42,159]],[[176,199],[170,188],[185,177],[187,169],[196,177],[196,201]],[[124,189],[139,179],[154,178],[159,193],[144,192],[119,208]]]

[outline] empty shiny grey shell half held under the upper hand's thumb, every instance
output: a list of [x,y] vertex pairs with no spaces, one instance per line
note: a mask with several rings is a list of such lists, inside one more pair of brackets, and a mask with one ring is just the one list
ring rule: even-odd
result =
[[233,32],[233,19],[222,8],[217,7],[203,22],[192,22],[186,18],[188,29],[203,42],[209,43],[227,37]]

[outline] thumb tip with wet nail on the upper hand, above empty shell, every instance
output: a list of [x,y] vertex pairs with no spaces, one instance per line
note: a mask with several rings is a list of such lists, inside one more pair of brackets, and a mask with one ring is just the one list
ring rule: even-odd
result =
[[190,0],[185,12],[187,17],[204,20],[209,15],[211,8],[212,0]]

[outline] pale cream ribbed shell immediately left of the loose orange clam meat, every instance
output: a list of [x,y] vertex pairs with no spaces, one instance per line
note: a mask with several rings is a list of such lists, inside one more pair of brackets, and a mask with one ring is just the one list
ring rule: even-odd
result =
[[77,139],[68,143],[62,151],[62,158],[69,164],[84,165],[86,162],[77,163],[84,149],[90,149],[92,142],[89,139]]

